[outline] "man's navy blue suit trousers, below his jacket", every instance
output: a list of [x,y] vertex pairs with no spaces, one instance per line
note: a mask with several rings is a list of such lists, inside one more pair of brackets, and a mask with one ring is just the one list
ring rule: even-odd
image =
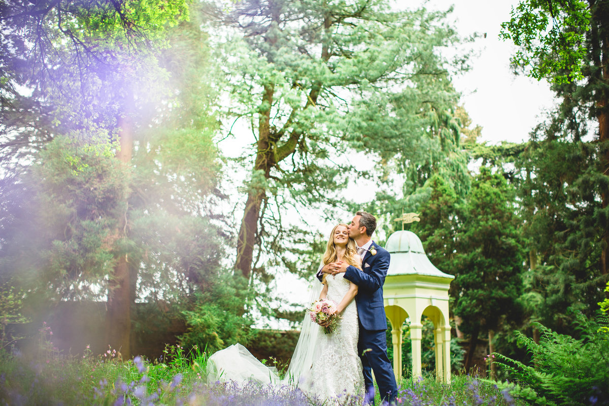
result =
[[374,382],[379,387],[382,403],[395,403],[398,387],[395,382],[393,367],[387,357],[387,335],[385,330],[367,330],[359,323],[359,341],[357,351],[364,367],[364,385],[366,387],[365,403],[374,405]]

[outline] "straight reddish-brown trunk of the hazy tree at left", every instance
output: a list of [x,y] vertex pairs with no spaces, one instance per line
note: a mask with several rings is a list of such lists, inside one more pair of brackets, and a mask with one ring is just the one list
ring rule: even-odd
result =
[[[130,109],[125,109],[125,111],[130,111]],[[133,153],[131,117],[128,114],[119,117],[118,127],[121,150],[116,153],[116,158],[127,165],[130,163]],[[118,238],[124,238],[127,234],[127,209],[128,203],[125,201],[125,212],[121,215],[119,228],[116,231]],[[127,254],[119,254],[116,257],[114,273],[108,283],[106,334],[107,343],[120,351],[123,359],[131,357],[131,305],[135,301],[131,274]]]

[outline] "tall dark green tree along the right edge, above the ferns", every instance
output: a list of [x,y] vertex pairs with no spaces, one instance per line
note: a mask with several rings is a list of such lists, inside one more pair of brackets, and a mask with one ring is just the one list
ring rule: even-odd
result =
[[604,0],[523,1],[503,24],[513,64],[530,62],[561,100],[518,164],[538,316],[558,331],[569,307],[591,316],[609,278],[608,10]]

